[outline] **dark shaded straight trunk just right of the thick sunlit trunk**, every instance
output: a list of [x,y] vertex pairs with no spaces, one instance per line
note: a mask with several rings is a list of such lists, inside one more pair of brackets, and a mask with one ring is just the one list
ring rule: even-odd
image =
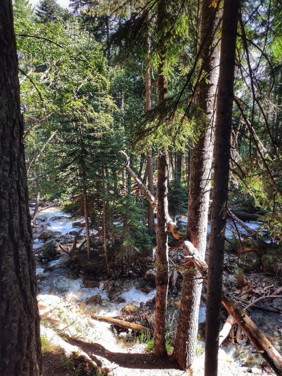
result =
[[239,0],[224,0],[223,3],[214,143],[213,206],[208,255],[205,376],[217,375],[239,5]]

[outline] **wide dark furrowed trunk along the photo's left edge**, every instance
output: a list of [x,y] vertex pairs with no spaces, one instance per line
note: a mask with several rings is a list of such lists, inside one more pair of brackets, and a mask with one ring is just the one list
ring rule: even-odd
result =
[[12,1],[0,3],[0,374],[42,371]]

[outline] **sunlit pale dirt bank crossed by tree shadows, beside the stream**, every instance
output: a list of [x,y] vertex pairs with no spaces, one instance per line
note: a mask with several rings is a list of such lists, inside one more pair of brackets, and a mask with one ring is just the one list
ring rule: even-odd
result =
[[[43,351],[43,376],[180,376],[187,374],[177,364],[158,360],[147,344],[118,341],[110,324],[95,321],[53,295],[39,295],[41,335],[48,346]],[[44,350],[44,348],[43,348]],[[71,361],[68,361],[71,359]],[[91,364],[91,367],[90,367]],[[81,365],[81,369],[75,371]],[[202,364],[203,366],[203,364]],[[67,368],[66,368],[67,367]],[[76,372],[76,373],[75,373]],[[266,373],[259,368],[241,367],[224,350],[219,351],[219,376]],[[203,368],[193,376],[204,375]]]

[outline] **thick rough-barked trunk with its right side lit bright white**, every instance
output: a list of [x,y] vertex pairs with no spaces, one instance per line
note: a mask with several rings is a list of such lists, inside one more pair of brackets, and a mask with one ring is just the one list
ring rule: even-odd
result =
[[[212,127],[218,79],[217,26],[219,15],[211,0],[204,0],[201,21],[202,70],[204,77],[196,94],[196,132],[199,138],[192,149],[188,203],[187,237],[204,257],[210,171],[212,162]],[[204,114],[204,115],[203,115]],[[196,353],[199,303],[202,285],[197,270],[186,270],[183,275],[181,304],[173,356],[181,368],[190,367]],[[189,303],[189,305],[187,304]]]

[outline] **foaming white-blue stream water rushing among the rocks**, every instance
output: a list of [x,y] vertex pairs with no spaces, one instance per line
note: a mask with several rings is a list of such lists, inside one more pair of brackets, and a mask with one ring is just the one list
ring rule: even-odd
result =
[[[60,218],[54,218],[60,217]],[[37,224],[40,224],[40,219],[46,218],[46,221],[43,223],[49,223],[50,226],[48,229],[52,231],[60,231],[62,235],[69,233],[72,230],[77,230],[77,228],[72,226],[71,216],[60,211],[59,208],[50,208],[43,210],[37,216]],[[181,219],[180,222],[185,225],[187,223],[186,219]],[[248,222],[248,226],[252,229],[257,229],[261,223],[259,222]],[[231,226],[231,223],[227,225]],[[246,233],[245,229],[238,226],[238,229],[242,233]],[[210,231],[210,223],[208,223],[208,232]],[[231,237],[233,234],[230,230],[226,229],[226,237]],[[37,249],[43,244],[42,240],[34,240],[34,249]],[[64,261],[68,258],[67,255],[62,255],[60,258],[43,263],[40,266],[37,266],[37,277],[39,280],[39,289],[40,294],[54,294],[60,296],[63,300],[73,302],[76,305],[80,305],[84,312],[90,314],[99,314],[108,317],[113,317],[120,315],[120,310],[125,305],[138,305],[143,302],[147,302],[148,299],[152,298],[156,290],[152,289],[150,293],[146,294],[141,290],[140,279],[136,277],[133,279],[126,279],[126,277],[118,278],[115,280],[115,284],[118,285],[120,293],[118,297],[123,298],[123,302],[118,302],[117,300],[111,301],[108,297],[107,290],[105,289],[104,282],[101,281],[99,287],[95,288],[85,288],[83,285],[82,278],[70,279],[68,268],[58,268],[54,271],[44,270],[52,265],[57,264],[58,262]],[[142,278],[141,278],[142,280]],[[268,277],[265,277],[266,283],[270,284],[271,280]],[[277,282],[277,279],[276,279]],[[275,283],[274,283],[275,284]],[[95,296],[101,296],[101,302],[99,304],[90,304],[86,305],[85,301],[87,298]],[[180,294],[169,294],[168,296],[168,308],[167,315],[172,318],[175,315],[174,325],[172,329],[175,329],[177,322],[178,309],[175,308],[175,302],[180,301]],[[276,301],[277,304],[281,300]],[[282,315],[265,313],[262,311],[254,310],[251,315],[254,322],[267,334],[267,337],[275,345],[276,349],[281,352],[282,346]],[[205,305],[201,302],[199,310],[199,323],[205,321]],[[248,351],[245,351],[243,347],[239,347],[239,350],[236,350],[235,346],[230,346],[228,351],[234,354],[234,352],[239,351],[240,363],[246,361],[247,358],[252,357],[252,353],[255,353],[255,349],[252,346],[246,348]],[[251,354],[251,355],[250,355]],[[257,359],[257,355],[254,355]]]

